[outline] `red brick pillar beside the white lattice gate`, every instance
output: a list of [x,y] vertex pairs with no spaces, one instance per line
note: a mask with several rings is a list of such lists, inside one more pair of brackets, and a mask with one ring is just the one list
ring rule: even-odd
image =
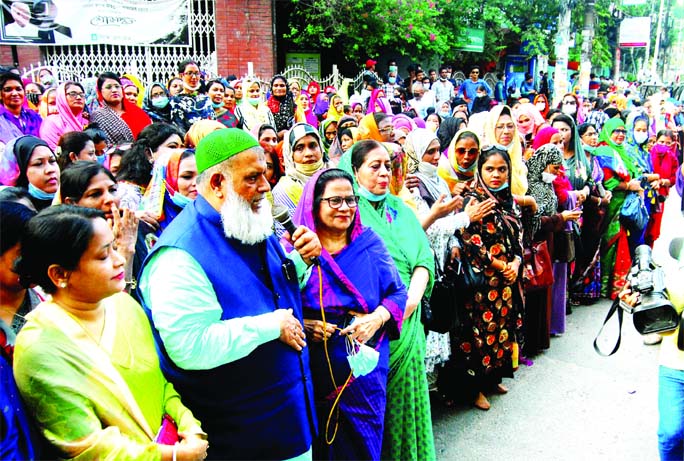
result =
[[272,0],[216,0],[216,51],[220,75],[247,73],[254,64],[260,77],[272,76],[276,49]]

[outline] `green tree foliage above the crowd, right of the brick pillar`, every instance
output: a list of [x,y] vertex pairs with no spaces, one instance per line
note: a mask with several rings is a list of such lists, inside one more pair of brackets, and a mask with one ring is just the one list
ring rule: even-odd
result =
[[[627,16],[649,14],[647,5],[624,7]],[[562,2],[572,11],[576,46],[570,59],[579,60],[587,0],[291,0],[294,12],[289,32],[295,45],[330,49],[339,45],[348,60],[361,61],[391,48],[405,55],[463,57],[456,49],[466,28],[485,29],[485,49],[479,58],[496,60],[502,50],[522,48],[552,59]],[[614,0],[596,0],[592,62],[610,66],[616,19]]]

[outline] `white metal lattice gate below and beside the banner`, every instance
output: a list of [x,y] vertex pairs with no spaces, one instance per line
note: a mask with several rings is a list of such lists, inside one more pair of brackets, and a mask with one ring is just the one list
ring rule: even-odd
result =
[[[216,60],[215,0],[192,0],[190,4],[190,47],[80,45],[44,48],[45,64],[57,72],[60,81],[81,81],[101,72],[136,75],[144,82],[166,82],[178,74],[178,63],[194,59],[202,70],[214,76]],[[154,27],[154,24],[150,24]]]

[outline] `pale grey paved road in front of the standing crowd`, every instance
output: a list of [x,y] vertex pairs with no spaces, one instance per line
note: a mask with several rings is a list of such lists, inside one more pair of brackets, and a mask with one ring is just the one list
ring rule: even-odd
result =
[[489,411],[433,399],[437,458],[657,460],[658,346],[644,346],[625,316],[620,350],[599,356],[592,341],[609,306],[574,308],[566,333],[504,380],[510,391]]

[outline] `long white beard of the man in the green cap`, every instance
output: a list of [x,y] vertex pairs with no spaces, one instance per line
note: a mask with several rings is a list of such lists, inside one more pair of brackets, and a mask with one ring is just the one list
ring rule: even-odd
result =
[[273,233],[271,202],[261,199],[259,211],[254,212],[250,203],[238,195],[231,187],[227,188],[226,200],[221,205],[223,232],[245,245],[263,242]]

